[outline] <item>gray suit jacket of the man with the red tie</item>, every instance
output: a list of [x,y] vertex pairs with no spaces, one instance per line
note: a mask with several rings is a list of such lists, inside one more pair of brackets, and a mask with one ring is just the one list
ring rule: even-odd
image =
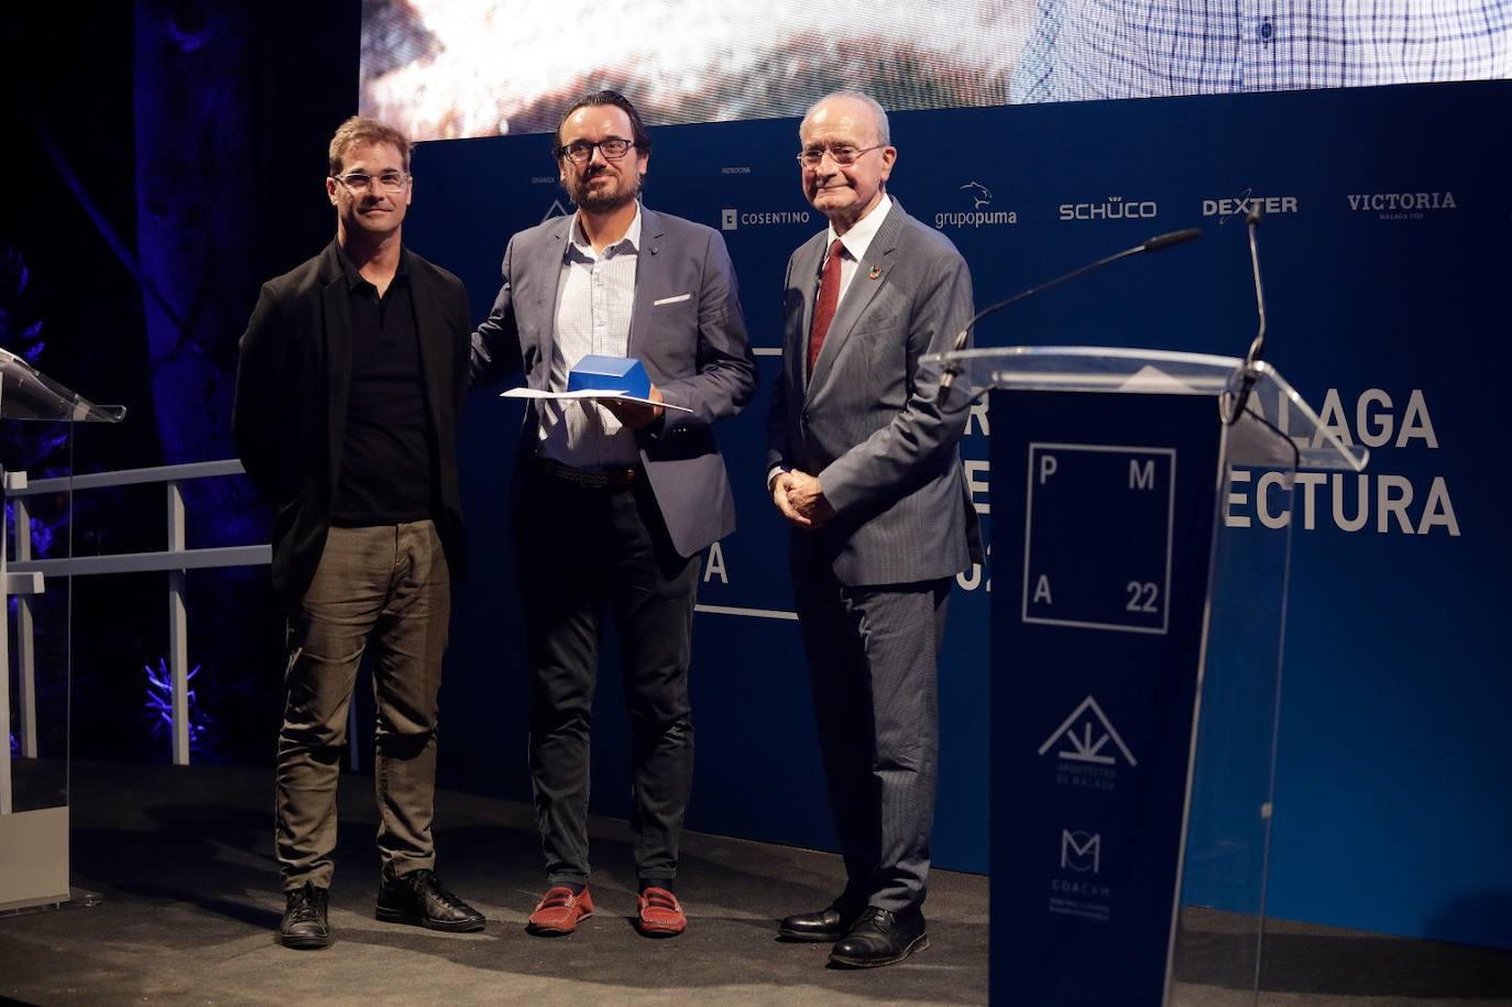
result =
[[824,248],[820,233],[788,260],[782,380],[767,429],[767,470],[816,475],[836,511],[818,531],[794,529],[794,572],[827,564],[847,585],[948,578],[981,555],[957,451],[969,411],[965,396],[936,407],[936,383],[921,380],[918,364],[971,319],[971,271],[950,239],[894,200],[810,381]]

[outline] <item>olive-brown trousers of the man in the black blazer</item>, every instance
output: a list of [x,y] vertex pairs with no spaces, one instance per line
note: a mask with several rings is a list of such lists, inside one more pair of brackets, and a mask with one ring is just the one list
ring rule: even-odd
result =
[[378,649],[378,854],[392,874],[435,865],[435,699],[451,590],[429,520],[330,531],[299,614],[289,620],[275,821],[284,891],[331,885],[346,708],[369,641]]

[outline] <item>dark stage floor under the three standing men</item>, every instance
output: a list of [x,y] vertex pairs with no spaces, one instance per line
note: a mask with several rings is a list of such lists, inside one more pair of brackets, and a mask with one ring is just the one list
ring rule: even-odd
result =
[[[95,907],[0,918],[0,996],[29,1004],[981,1004],[987,1001],[987,880],[937,871],[925,912],[933,947],[898,966],[826,968],[827,945],[779,943],[774,921],[839,889],[838,857],[700,833],[683,841],[679,897],[689,928],[635,933],[629,829],[593,820],[597,915],[569,937],[525,933],[540,895],[528,806],[443,792],[437,868],[488,916],[479,934],[373,919],[372,782],[342,777],[336,943],[290,951],[272,860],[272,773],[76,764],[73,885]],[[1196,921],[1223,943],[1231,921]],[[1267,937],[1267,1007],[1512,1004],[1512,953],[1296,924]],[[1201,951],[1201,948],[1199,948]],[[1205,984],[1202,954],[1181,1004],[1241,1004]],[[1007,999],[1004,1002],[1012,1002]],[[1063,1005],[1080,1007],[1080,1005]]]

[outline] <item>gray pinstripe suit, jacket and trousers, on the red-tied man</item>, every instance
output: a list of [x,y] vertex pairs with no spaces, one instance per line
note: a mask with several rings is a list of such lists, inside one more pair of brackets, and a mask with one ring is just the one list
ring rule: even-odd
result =
[[788,262],[767,470],[816,475],[836,511],[794,529],[791,565],[848,874],[841,903],[901,912],[928,874],[950,578],[980,558],[957,451],[968,411],[937,408],[918,361],[969,321],[971,272],[894,200],[806,380],[826,245],[815,234]]

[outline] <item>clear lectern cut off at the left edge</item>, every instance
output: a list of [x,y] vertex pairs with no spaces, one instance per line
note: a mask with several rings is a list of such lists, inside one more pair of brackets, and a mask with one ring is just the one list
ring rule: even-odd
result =
[[[41,454],[67,460],[73,423],[115,423],[124,416],[124,408],[94,405],[21,357],[0,349],[0,419],[6,432],[0,478],[8,519],[0,523],[0,584],[8,603],[6,618],[0,618],[0,667],[5,668],[0,723],[6,726],[5,745],[0,745],[0,912],[56,906],[70,897],[70,588],[67,578],[62,584],[44,584],[41,573],[8,570],[11,543],[6,538],[14,538],[15,559],[32,558],[32,538],[12,535],[9,519],[15,517],[15,528],[33,525],[29,497],[21,494],[27,488],[23,466],[42,461]],[[68,555],[71,517],[67,481],[48,497],[47,507],[57,514],[51,525],[36,522],[36,526],[57,529],[47,547],[50,556],[62,558]],[[11,611],[17,618],[14,637]]]

